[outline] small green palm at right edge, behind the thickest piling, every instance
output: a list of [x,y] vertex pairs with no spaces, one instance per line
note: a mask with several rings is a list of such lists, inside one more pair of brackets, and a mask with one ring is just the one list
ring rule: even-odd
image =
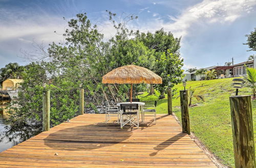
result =
[[255,98],[255,91],[256,91],[256,69],[246,67],[247,75],[244,76],[246,81],[246,86],[252,90],[253,98]]

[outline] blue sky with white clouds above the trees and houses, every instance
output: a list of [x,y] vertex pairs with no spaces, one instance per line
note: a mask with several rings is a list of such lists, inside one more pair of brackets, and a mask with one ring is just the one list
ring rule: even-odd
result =
[[35,53],[35,43],[47,47],[63,42],[67,20],[77,13],[86,12],[109,39],[115,30],[105,10],[117,16],[138,16],[128,23],[131,29],[155,32],[163,28],[182,37],[184,70],[224,65],[232,58],[236,64],[255,54],[243,44],[245,35],[256,27],[255,0],[0,0],[0,68],[10,62],[28,64],[24,53]]

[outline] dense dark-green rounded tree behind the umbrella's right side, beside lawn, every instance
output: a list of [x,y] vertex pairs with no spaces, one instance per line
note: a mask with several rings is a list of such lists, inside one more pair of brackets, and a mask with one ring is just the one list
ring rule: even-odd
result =
[[155,88],[160,92],[159,98],[165,97],[168,82],[172,87],[182,80],[183,59],[180,58],[180,40],[174,38],[170,32],[164,32],[163,29],[153,33],[136,32],[136,39],[142,41],[148,48],[155,50],[156,63],[153,71],[162,77],[162,85],[156,85]]

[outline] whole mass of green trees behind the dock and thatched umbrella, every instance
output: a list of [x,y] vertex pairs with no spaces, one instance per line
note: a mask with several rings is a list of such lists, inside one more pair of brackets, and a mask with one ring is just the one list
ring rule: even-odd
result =
[[[26,66],[24,83],[13,101],[7,122],[11,137],[22,136],[22,140],[41,131],[42,127],[42,83],[47,83],[51,95],[51,127],[79,115],[79,84],[84,89],[86,113],[99,113],[105,100],[117,103],[129,95],[130,85],[103,85],[102,76],[123,65],[139,65],[155,71],[163,78],[163,85],[156,87],[164,96],[168,81],[180,82],[183,60],[180,58],[180,38],[163,30],[152,34],[154,46],[147,46],[143,38],[134,37],[134,32],[125,24],[137,17],[117,22],[116,14],[109,12],[116,35],[103,39],[97,25],[92,25],[86,13],[80,13],[68,21],[63,34],[65,43],[51,43],[41,58]],[[65,19],[65,18],[64,18]],[[150,35],[150,34],[148,34]],[[140,92],[145,85],[134,85]],[[160,96],[159,95],[159,96]],[[29,131],[28,131],[29,130]]]

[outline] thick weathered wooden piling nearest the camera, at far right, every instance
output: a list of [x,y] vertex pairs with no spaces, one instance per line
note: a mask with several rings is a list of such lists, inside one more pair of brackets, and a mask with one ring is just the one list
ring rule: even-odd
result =
[[256,167],[251,96],[230,96],[234,163],[236,167]]

